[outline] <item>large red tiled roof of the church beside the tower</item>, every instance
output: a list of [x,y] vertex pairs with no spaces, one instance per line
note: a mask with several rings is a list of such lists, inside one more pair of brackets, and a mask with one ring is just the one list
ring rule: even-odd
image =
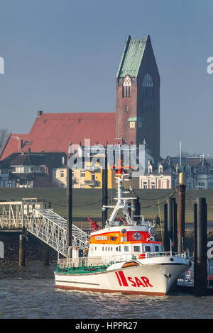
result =
[[29,134],[11,135],[0,159],[29,148],[31,152],[67,153],[69,142],[84,145],[85,139],[90,139],[90,145],[114,145],[115,131],[116,113],[42,113]]

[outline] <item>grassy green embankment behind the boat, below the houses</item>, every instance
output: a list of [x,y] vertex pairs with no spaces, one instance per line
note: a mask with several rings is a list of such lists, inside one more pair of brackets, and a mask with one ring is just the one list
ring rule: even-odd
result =
[[[153,220],[160,215],[163,220],[163,202],[174,190],[136,190],[136,195],[141,198],[141,215]],[[208,221],[213,221],[213,191],[191,190],[187,194],[193,198],[206,198],[208,204]],[[109,205],[113,204],[116,190],[109,190]],[[0,200],[20,200],[21,198],[43,198],[51,201],[55,213],[66,216],[66,190],[64,188],[0,188]],[[178,193],[175,194],[178,203]],[[185,221],[193,222],[193,201],[186,196]],[[155,205],[157,204],[157,205]],[[154,207],[148,207],[155,205]],[[209,205],[212,205],[210,207]],[[73,221],[76,225],[88,226],[87,217],[97,221],[102,220],[102,190],[101,189],[73,189]]]

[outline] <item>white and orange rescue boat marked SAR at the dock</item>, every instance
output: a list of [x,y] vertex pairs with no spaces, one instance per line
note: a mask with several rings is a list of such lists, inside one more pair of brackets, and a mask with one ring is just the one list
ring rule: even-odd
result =
[[[131,217],[124,191],[124,170],[116,171],[116,205],[104,229],[94,224],[88,249],[69,247],[67,258],[58,258],[55,287],[102,293],[168,295],[178,278],[190,267],[185,253],[164,252],[155,240],[158,218],[145,221]],[[117,218],[122,213],[123,218]],[[85,250],[85,251],[83,251]]]

